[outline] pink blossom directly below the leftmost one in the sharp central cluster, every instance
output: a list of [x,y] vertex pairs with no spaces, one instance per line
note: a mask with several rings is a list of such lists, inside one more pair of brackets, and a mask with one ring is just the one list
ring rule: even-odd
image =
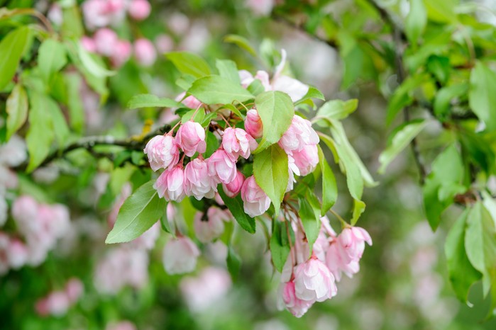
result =
[[180,202],[184,196],[184,171],[180,166],[166,169],[153,184],[160,198]]

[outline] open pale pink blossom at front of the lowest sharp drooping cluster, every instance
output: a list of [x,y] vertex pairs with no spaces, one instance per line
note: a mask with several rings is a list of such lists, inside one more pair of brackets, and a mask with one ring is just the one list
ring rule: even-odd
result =
[[338,292],[334,276],[317,258],[300,263],[294,271],[295,295],[308,302],[323,302]]

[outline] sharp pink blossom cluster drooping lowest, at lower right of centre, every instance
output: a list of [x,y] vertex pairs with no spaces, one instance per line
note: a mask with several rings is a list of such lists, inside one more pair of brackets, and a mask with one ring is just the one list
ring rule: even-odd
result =
[[[298,221],[296,216],[292,219]],[[292,227],[296,239],[282,272],[280,296],[282,305],[295,317],[302,317],[315,302],[337,294],[336,281],[341,280],[341,273],[348,277],[358,273],[365,241],[372,245],[372,239],[360,227],[346,227],[336,235],[327,217],[322,217],[319,237],[312,247],[312,256],[308,257],[304,233],[294,222]]]

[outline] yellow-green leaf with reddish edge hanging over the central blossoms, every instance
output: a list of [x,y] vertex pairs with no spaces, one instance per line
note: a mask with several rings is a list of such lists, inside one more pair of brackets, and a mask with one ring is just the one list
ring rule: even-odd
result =
[[253,159],[253,175],[258,186],[269,196],[279,214],[282,198],[287,188],[289,172],[287,154],[277,144],[272,144]]

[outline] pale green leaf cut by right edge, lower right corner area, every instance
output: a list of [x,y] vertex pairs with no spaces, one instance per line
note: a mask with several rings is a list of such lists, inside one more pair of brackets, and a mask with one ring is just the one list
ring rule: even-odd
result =
[[491,273],[496,271],[495,223],[479,201],[468,213],[465,250],[472,266],[483,274],[484,295],[489,292]]

